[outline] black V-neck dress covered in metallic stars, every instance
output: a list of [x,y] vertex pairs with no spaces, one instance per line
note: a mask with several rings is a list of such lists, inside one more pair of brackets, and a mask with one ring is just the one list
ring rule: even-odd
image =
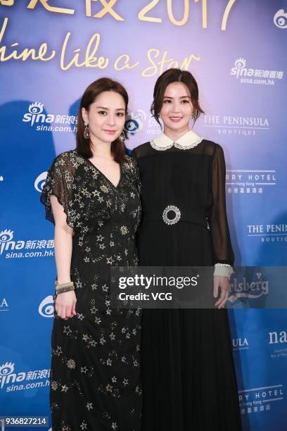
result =
[[57,196],[73,228],[70,275],[77,315],[53,321],[53,431],[141,430],[141,312],[112,308],[110,266],[136,266],[141,218],[136,163],[126,156],[115,187],[77,150],[56,157],[41,201],[54,223]]

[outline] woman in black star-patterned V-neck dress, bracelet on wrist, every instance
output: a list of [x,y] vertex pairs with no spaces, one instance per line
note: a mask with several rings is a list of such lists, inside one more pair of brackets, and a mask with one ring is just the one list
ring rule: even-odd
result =
[[53,431],[141,429],[140,311],[112,308],[109,285],[111,266],[138,262],[139,176],[122,132],[127,103],[108,78],[85,90],[77,149],[56,157],[42,192],[55,223],[58,284],[75,287],[54,296]]

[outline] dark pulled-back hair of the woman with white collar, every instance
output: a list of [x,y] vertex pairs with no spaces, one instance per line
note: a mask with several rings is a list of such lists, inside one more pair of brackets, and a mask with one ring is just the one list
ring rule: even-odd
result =
[[183,84],[185,84],[189,89],[191,94],[191,103],[193,105],[192,118],[195,123],[200,113],[204,113],[200,108],[198,101],[198,85],[193,75],[191,75],[188,70],[181,70],[177,68],[165,70],[165,72],[162,73],[155,82],[155,89],[153,90],[153,103],[151,105],[151,113],[153,117],[161,127],[160,109],[162,108],[163,104],[163,95],[165,94],[167,85],[171,84],[172,82],[183,82]]

